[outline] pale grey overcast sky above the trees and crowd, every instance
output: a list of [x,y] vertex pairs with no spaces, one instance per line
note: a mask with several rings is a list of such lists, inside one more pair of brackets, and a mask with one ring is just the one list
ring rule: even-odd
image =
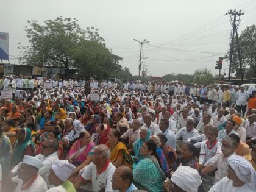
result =
[[[23,31],[27,20],[77,18],[83,29],[94,26],[105,38],[120,64],[138,74],[140,44],[147,68],[154,76],[193,74],[209,68],[229,49],[230,9],[243,9],[238,32],[256,23],[255,0],[5,0],[1,2],[0,31],[9,32],[10,63],[18,63],[18,42],[28,44]],[[222,69],[227,73],[227,62]],[[222,72],[224,72],[222,70]]]

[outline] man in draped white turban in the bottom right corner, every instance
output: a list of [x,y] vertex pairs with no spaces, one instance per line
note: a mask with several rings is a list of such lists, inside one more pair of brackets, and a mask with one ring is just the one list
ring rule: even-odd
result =
[[210,189],[210,192],[226,191],[256,191],[256,171],[243,157],[230,157],[227,162],[227,177]]

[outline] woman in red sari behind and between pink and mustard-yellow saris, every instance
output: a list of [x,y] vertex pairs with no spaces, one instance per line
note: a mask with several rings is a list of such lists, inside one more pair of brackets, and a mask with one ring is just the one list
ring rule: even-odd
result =
[[96,145],[107,143],[107,135],[110,131],[110,127],[107,124],[101,124],[96,127],[96,132],[93,134],[93,142]]

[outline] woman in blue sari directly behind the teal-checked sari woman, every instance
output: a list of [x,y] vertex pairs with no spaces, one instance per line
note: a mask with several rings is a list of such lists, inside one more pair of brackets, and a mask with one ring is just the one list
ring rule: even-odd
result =
[[157,157],[159,159],[160,166],[161,166],[163,172],[165,172],[165,174],[167,175],[168,172],[169,172],[169,167],[166,163],[165,154],[163,154],[163,150],[160,147],[160,144],[161,144],[160,143],[160,138],[157,135],[152,135],[149,138],[149,140],[152,140],[152,141],[154,141],[155,144],[157,144],[157,149],[156,149]]

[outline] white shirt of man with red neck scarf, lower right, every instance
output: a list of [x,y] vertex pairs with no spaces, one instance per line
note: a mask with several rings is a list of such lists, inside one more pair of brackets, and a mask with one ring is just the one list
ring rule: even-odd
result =
[[212,148],[207,146],[207,141],[202,142],[199,156],[199,164],[204,165],[210,158],[221,153],[221,143],[217,140]]

